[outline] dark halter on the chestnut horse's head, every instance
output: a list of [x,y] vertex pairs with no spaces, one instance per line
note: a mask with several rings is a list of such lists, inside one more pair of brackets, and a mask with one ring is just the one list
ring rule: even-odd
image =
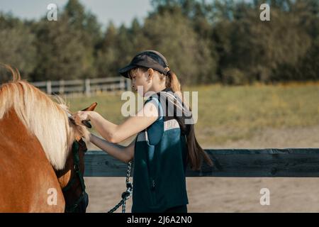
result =
[[[85,151],[84,151],[85,152]],[[76,179],[79,179],[82,188],[82,194],[79,196],[79,199],[69,206],[65,206],[65,213],[84,213],[86,211],[86,207],[89,204],[89,196],[85,192],[85,184],[84,184],[84,177],[82,172],[79,168],[79,142],[74,140],[72,144],[72,155],[73,155],[73,162],[74,162],[74,172],[72,179],[69,180],[67,186],[62,189],[62,192],[67,192],[67,190],[71,189],[71,187],[76,182]]]

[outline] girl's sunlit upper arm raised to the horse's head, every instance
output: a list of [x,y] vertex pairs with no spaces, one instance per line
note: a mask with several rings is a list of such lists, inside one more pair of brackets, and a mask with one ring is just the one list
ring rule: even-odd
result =
[[74,115],[74,120],[77,123],[90,120],[96,131],[111,143],[121,143],[123,140],[150,126],[157,118],[157,106],[152,104],[152,102],[145,104],[136,116],[130,116],[121,125],[111,123],[95,111],[79,111]]

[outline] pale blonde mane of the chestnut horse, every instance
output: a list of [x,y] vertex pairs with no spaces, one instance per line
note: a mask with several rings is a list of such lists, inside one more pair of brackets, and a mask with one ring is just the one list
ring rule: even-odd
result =
[[17,70],[11,72],[13,81],[0,87],[0,119],[13,108],[23,125],[38,138],[55,170],[64,169],[74,139],[84,137],[88,143],[89,131],[69,122],[69,111],[59,96],[56,103],[40,89],[21,80]]

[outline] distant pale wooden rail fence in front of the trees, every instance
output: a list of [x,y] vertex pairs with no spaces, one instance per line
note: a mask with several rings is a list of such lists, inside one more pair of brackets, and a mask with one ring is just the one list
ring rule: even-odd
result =
[[130,89],[130,79],[124,77],[44,81],[32,84],[47,94],[85,94],[86,96],[98,92]]

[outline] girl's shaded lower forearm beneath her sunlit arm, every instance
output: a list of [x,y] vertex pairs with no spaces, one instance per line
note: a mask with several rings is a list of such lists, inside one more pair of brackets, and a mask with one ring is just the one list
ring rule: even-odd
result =
[[134,148],[135,148],[135,140],[133,140],[130,145],[127,147],[116,145],[113,143],[109,143],[106,140],[103,140],[96,135],[90,134],[90,141],[94,143],[96,146],[104,150],[108,155],[115,157],[122,162],[130,162],[134,157]]

